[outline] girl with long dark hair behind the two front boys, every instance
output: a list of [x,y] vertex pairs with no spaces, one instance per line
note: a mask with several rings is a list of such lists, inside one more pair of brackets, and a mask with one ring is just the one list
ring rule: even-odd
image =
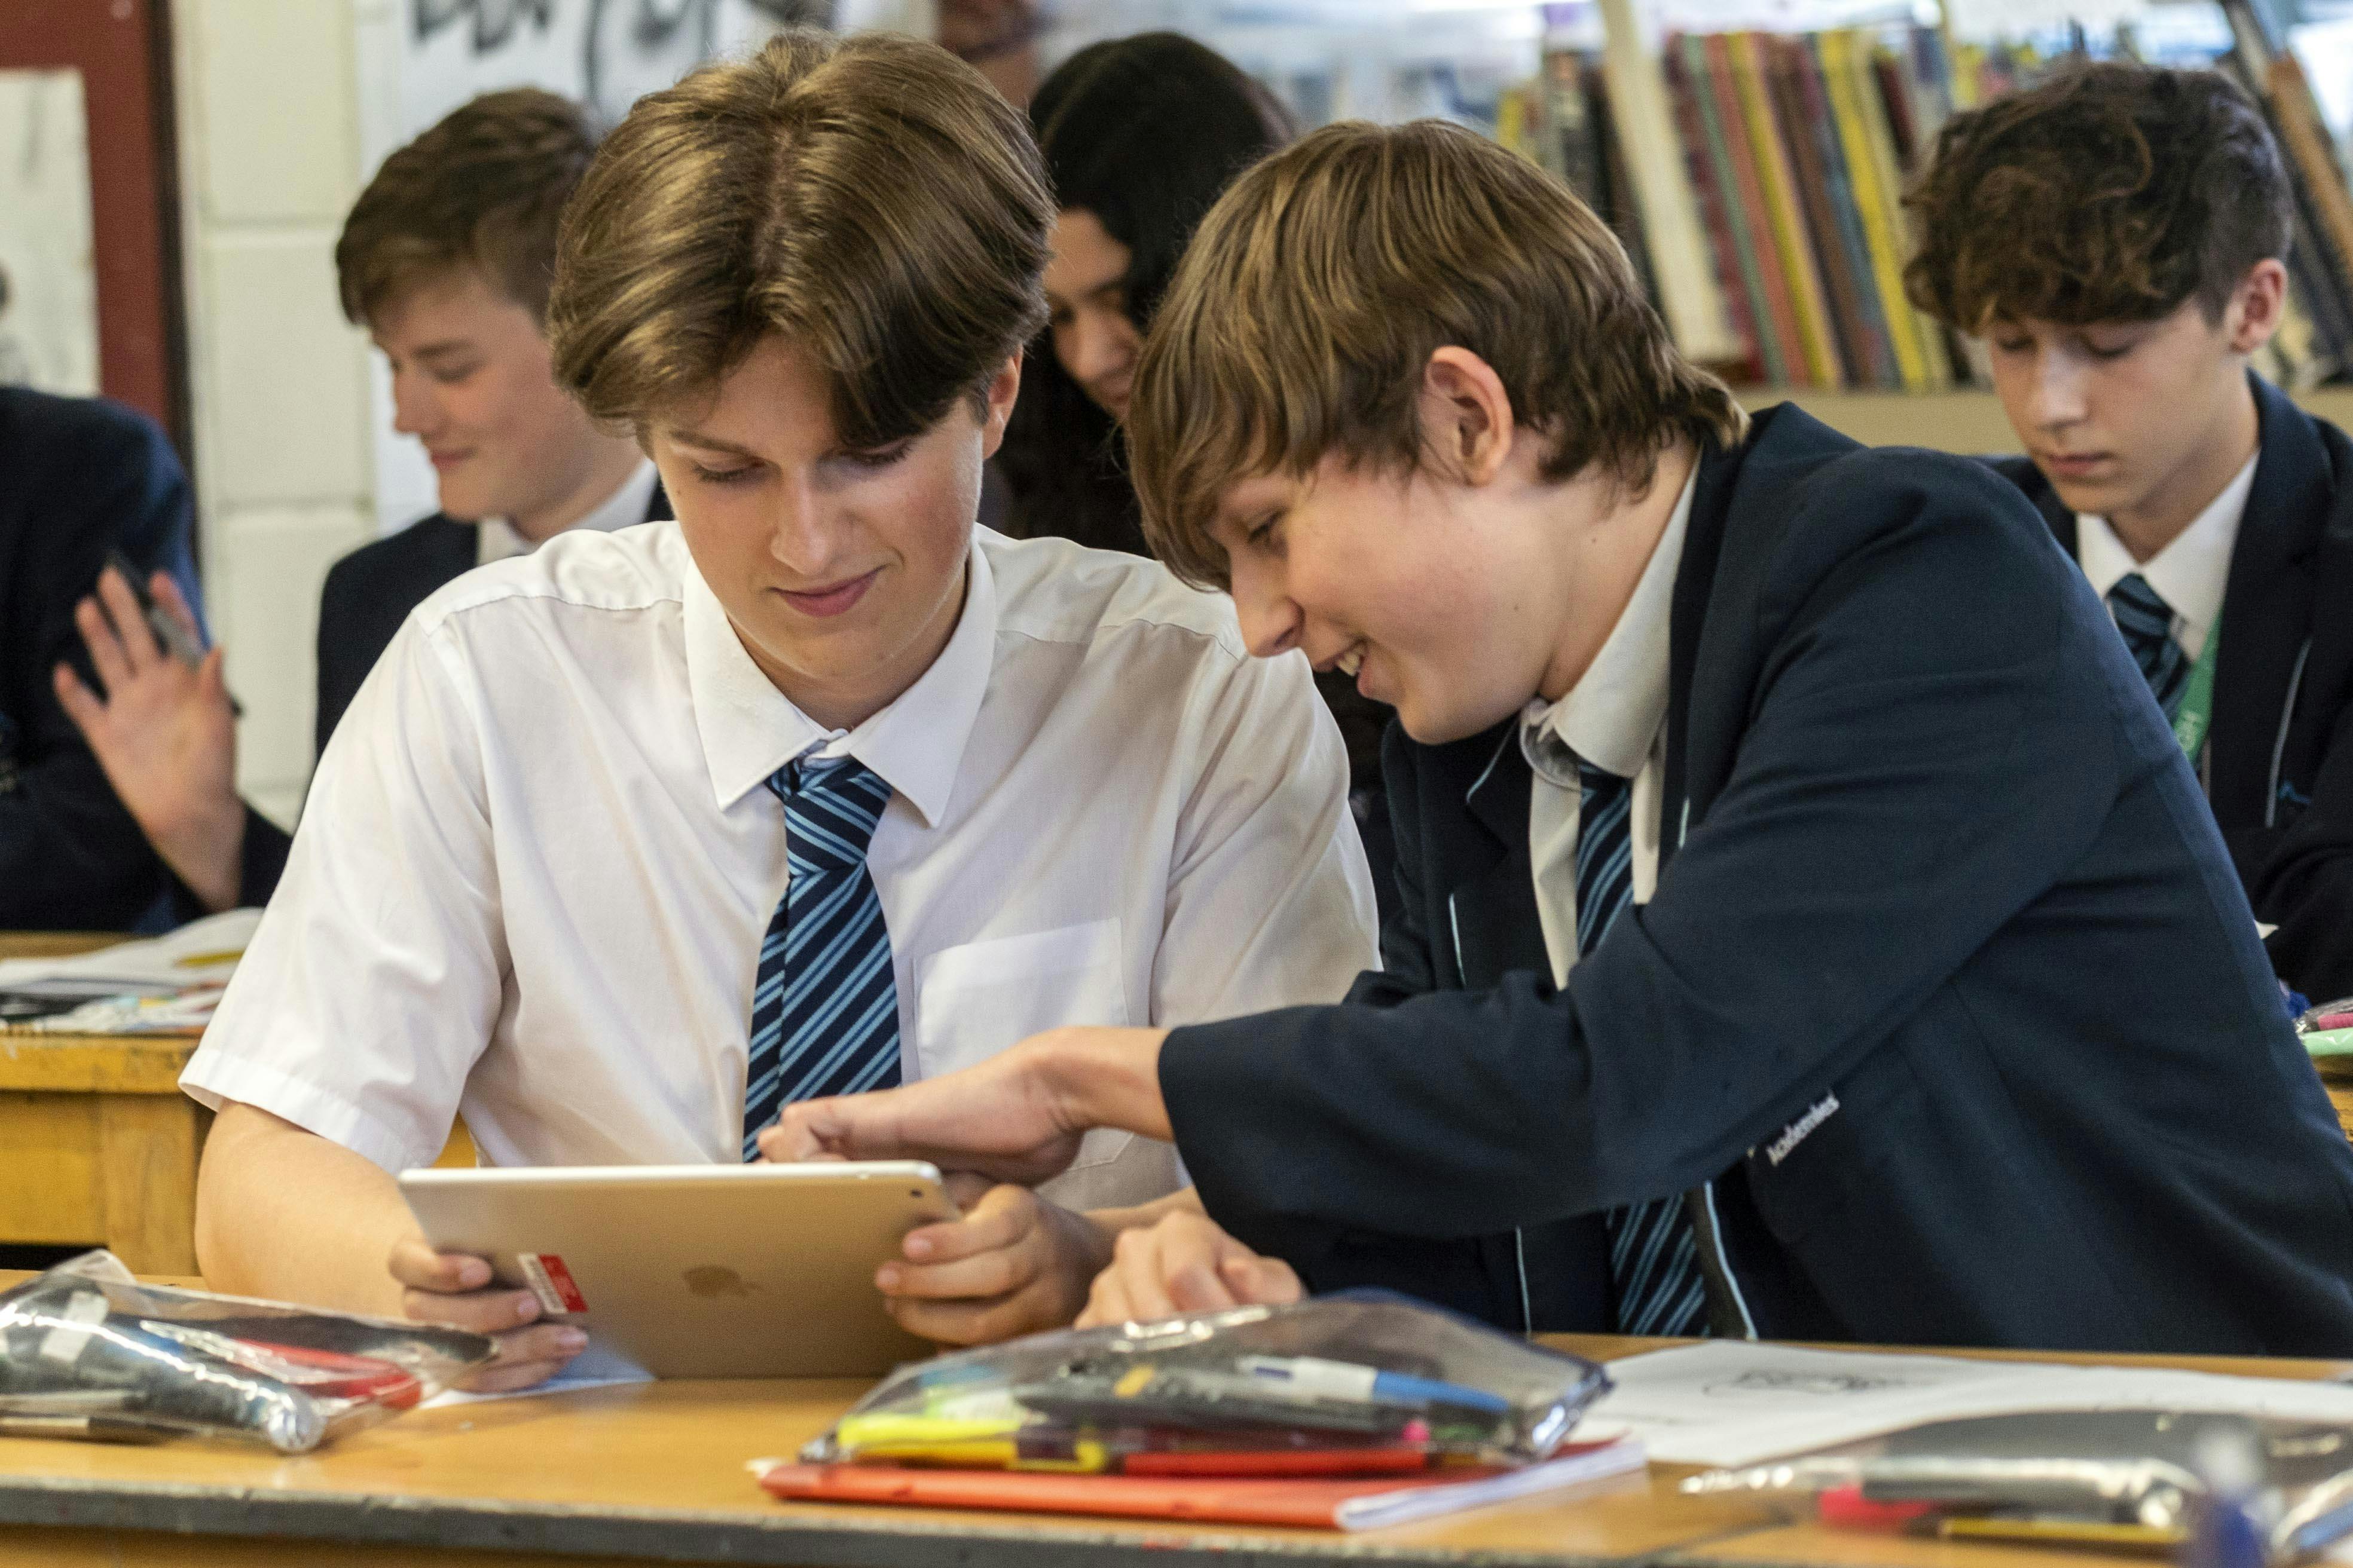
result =
[[[1120,435],[1144,331],[1209,205],[1297,129],[1233,61],[1179,33],[1080,49],[1038,87],[1031,125],[1061,216],[1045,270],[1047,329],[1031,343],[995,458],[1012,496],[1005,531],[1148,555]],[[1348,743],[1348,804],[1386,917],[1395,900],[1381,792],[1388,708],[1344,675],[1320,675],[1318,689]]]

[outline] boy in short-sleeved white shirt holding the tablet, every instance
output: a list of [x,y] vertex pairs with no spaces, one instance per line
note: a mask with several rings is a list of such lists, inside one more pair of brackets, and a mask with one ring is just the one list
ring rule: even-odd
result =
[[[680,522],[454,583],[360,691],[184,1079],[212,1284],[504,1333],[492,1382],[532,1382],[576,1331],[391,1180],[456,1112],[494,1164],[736,1161],[798,1098],[1372,964],[1306,663],[1151,562],[974,527],[1052,221],[1019,113],[911,40],[788,33],[612,132],[555,369]],[[899,1321],[1068,1321],[1191,1201],[1125,1133],[1066,1180],[915,1232]]]

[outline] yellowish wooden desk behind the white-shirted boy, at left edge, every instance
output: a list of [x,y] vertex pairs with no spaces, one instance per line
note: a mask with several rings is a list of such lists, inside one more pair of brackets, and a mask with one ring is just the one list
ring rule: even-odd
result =
[[[0,933],[0,957],[118,936]],[[195,1272],[195,1159],[212,1112],[179,1093],[193,1039],[0,1034],[0,1241],[111,1246]]]

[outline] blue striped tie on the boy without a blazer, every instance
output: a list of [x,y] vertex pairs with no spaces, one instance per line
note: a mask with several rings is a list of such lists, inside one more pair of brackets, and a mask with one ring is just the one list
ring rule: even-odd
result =
[[767,788],[784,802],[791,882],[760,943],[751,990],[744,1159],[793,1100],[899,1081],[899,980],[866,846],[889,785],[856,757],[802,757]]

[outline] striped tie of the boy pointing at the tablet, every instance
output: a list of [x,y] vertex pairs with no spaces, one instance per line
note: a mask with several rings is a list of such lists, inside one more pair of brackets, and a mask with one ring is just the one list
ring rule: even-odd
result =
[[[1577,780],[1577,957],[1586,957],[1633,905],[1633,790],[1581,757]],[[1612,1208],[1607,1220],[1619,1333],[1704,1333],[1708,1286],[1682,1197]]]

